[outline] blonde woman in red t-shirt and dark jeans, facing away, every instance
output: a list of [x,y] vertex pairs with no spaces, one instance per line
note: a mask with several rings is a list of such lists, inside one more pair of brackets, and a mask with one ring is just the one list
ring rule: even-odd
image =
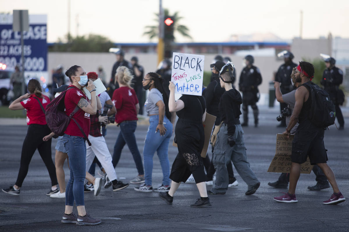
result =
[[144,169],[134,135],[139,103],[136,92],[130,86],[132,78],[131,72],[125,66],[120,66],[116,70],[115,80],[118,81],[120,88],[114,90],[112,102],[116,108],[115,120],[120,125],[120,132],[114,145],[113,166],[116,167],[118,164],[122,148],[127,143],[138,171],[138,175],[130,183],[140,184],[144,182]]

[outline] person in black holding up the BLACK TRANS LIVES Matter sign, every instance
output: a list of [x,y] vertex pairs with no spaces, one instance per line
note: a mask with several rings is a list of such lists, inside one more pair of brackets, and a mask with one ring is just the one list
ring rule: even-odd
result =
[[186,182],[191,174],[200,192],[200,198],[191,207],[210,206],[206,191],[206,175],[203,170],[201,151],[205,141],[202,122],[206,118],[206,103],[202,96],[182,95],[177,102],[174,100],[174,84],[170,82],[170,112],[177,112],[178,121],[175,135],[178,154],[173,161],[170,179],[171,188],[168,192],[160,192],[159,197],[172,204],[173,195],[180,182]]

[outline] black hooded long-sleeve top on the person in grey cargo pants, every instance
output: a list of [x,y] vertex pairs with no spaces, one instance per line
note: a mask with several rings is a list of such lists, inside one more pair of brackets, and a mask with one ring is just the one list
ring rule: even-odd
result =
[[234,135],[235,125],[240,124],[241,104],[242,97],[236,89],[225,91],[221,97],[219,112],[223,123],[228,125],[228,135]]

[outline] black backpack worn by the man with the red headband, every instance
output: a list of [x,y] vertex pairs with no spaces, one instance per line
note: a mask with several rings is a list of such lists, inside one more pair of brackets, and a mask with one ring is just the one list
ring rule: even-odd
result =
[[333,125],[336,119],[336,110],[329,94],[313,82],[306,82],[302,85],[310,89],[311,104],[308,115],[310,121],[319,128]]

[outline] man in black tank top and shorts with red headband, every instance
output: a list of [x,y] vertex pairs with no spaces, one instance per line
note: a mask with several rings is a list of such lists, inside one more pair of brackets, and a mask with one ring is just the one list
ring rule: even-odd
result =
[[291,129],[296,125],[297,121],[299,122],[292,142],[290,186],[288,193],[280,197],[274,197],[274,200],[278,202],[298,202],[295,191],[300,175],[300,164],[306,161],[307,156],[309,156],[311,164],[317,164],[321,168],[333,188],[332,196],[323,203],[338,204],[346,200],[339,191],[332,169],[326,163],[328,159],[324,144],[324,128],[315,126],[308,117],[311,95],[309,89],[303,84],[310,82],[313,77],[314,66],[311,63],[300,61],[296,70],[296,81],[302,85],[296,90],[295,108],[286,131],[283,133],[289,136]]

